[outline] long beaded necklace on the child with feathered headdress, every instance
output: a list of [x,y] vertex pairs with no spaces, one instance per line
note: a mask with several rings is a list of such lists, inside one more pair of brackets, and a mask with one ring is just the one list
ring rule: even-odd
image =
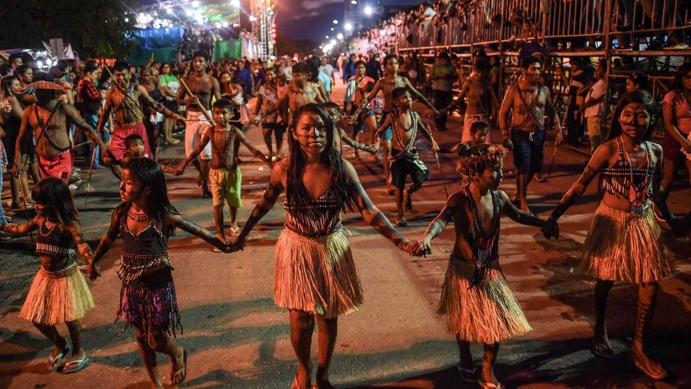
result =
[[480,228],[480,223],[477,218],[477,205],[470,192],[470,186],[465,187],[465,195],[468,198],[470,213],[472,213],[472,218],[470,219],[470,237],[472,238],[472,242],[470,242],[470,246],[473,249],[476,265],[476,269],[473,271],[473,275],[469,281],[469,288],[476,286],[485,277],[487,268],[492,261],[494,243],[499,237],[501,202],[499,201],[499,196],[496,194],[496,191],[490,191],[490,193],[492,196],[494,214],[492,215],[492,225],[489,230],[489,235],[485,235],[484,231]]

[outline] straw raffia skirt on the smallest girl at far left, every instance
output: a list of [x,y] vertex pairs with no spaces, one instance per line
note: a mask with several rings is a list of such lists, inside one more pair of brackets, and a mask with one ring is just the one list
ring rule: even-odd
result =
[[31,283],[19,317],[41,325],[57,325],[79,320],[91,308],[91,292],[76,264],[59,271],[41,267]]

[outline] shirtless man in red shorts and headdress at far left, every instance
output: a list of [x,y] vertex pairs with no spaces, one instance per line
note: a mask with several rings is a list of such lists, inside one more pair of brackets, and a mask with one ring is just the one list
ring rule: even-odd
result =
[[[20,145],[33,130],[38,155],[38,168],[41,175],[56,177],[65,184],[72,175],[72,142],[69,140],[69,125],[74,123],[84,130],[84,134],[101,150],[107,150],[101,138],[94,133],[93,128],[84,121],[73,106],[70,106],[62,87],[52,82],[40,81],[36,83],[36,98],[38,101],[24,110],[22,124],[17,137],[15,160],[19,157]],[[103,162],[110,164],[108,154],[103,154]],[[16,173],[16,164],[12,169]]]

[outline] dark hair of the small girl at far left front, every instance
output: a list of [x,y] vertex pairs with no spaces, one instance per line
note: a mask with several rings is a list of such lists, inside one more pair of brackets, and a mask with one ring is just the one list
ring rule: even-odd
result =
[[67,184],[55,177],[46,177],[33,186],[31,197],[36,203],[55,210],[57,224],[66,225],[69,222],[78,222],[79,213],[72,201],[72,193]]

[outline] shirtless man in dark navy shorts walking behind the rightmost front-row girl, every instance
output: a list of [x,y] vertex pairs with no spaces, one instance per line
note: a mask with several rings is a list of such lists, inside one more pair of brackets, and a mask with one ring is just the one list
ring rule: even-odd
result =
[[[526,200],[527,187],[538,171],[544,158],[544,113],[545,108],[552,115],[556,145],[561,143],[559,115],[552,104],[549,89],[539,83],[540,64],[535,57],[522,62],[518,83],[512,85],[504,96],[499,109],[499,128],[504,146],[513,150],[513,164],[518,169],[516,176],[517,197],[520,209],[530,213]],[[512,119],[509,125],[509,113]]]

